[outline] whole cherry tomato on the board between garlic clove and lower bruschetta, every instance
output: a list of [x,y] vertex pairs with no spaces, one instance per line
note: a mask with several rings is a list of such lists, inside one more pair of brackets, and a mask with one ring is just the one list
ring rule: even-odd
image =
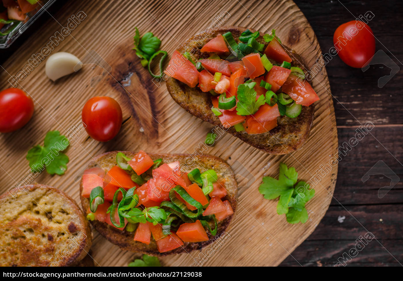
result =
[[110,141],[122,126],[122,110],[111,97],[91,97],[84,105],[81,118],[85,130],[96,141]]

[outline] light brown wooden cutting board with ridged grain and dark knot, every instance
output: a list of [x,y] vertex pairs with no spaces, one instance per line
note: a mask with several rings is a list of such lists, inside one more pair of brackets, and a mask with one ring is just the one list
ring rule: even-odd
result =
[[[31,35],[19,50],[4,64],[0,72],[1,89],[9,87],[7,80],[16,75],[50,41],[56,31],[68,24],[72,15],[80,11],[87,17],[78,24],[52,53],[66,51],[83,59],[95,50],[110,66],[95,87],[91,78],[102,73],[102,68],[84,65],[72,75],[56,83],[45,75],[45,62],[41,62],[20,81],[35,99],[35,113],[23,129],[0,134],[0,182],[5,192],[28,174],[27,151],[37,144],[43,145],[46,132],[59,130],[67,134],[81,121],[82,107],[90,97],[108,95],[116,99],[123,110],[123,126],[118,136],[99,143],[80,132],[66,151],[70,157],[63,176],[49,176],[45,172],[34,182],[60,188],[79,202],[79,174],[92,157],[111,150],[137,151],[143,149],[158,153],[193,153],[203,142],[212,125],[191,116],[175,103],[165,83],[157,87],[141,64],[133,48],[134,27],[141,35],[152,31],[162,41],[162,50],[168,54],[191,35],[216,25],[238,25],[276,34],[285,45],[301,55],[312,67],[321,53],[312,27],[293,1],[68,1],[52,15],[46,25]],[[222,15],[226,15],[225,20]],[[220,23],[214,17],[221,17]],[[245,167],[252,175],[249,188],[239,196],[236,215],[228,230],[231,236],[222,246],[215,244],[208,250],[204,265],[214,266],[275,266],[305,240],[324,216],[337,176],[337,166],[315,186],[315,197],[307,204],[309,220],[305,224],[291,225],[285,215],[276,214],[277,200],[266,200],[258,192],[263,176],[278,176],[278,163],[285,162],[299,172],[299,180],[308,181],[321,165],[329,163],[337,154],[337,130],[326,69],[322,68],[313,86],[320,101],[315,104],[315,118],[310,138],[298,151],[290,155],[275,156],[255,149],[239,139],[224,134],[214,147],[204,151],[217,155],[233,165],[242,174]],[[130,94],[128,94],[129,92]],[[197,151],[198,149],[196,149]],[[245,171],[244,171],[245,172]],[[244,175],[244,174],[243,174]],[[240,177],[241,186],[245,178]],[[125,252],[112,245],[94,230],[91,256],[96,265],[125,266],[139,254]],[[221,243],[222,244],[222,243]],[[205,253],[206,249],[202,250]],[[163,265],[188,266],[198,260],[200,252],[162,258]]]

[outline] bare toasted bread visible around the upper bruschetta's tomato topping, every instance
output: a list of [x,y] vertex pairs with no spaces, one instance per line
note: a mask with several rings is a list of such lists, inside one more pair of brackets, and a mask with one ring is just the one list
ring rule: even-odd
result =
[[[221,27],[214,31],[210,36],[203,36],[202,39],[199,35],[196,35],[185,42],[181,48],[178,49],[179,52],[183,53],[185,50],[190,52],[195,59],[208,58],[209,53],[202,53],[200,49],[206,44],[210,39],[217,36],[218,33],[224,34],[231,31],[234,39],[239,43],[239,36],[245,27],[234,27],[227,26]],[[249,29],[254,31],[253,29]],[[256,39],[259,43],[265,44],[265,48],[268,45],[260,36]],[[307,68],[303,64],[299,55],[294,51],[286,48],[287,53],[292,58],[291,65],[301,68],[305,74],[309,74]],[[227,54],[228,56],[230,54]],[[274,61],[272,61],[274,62]],[[274,62],[275,63],[275,62]],[[309,77],[308,77],[309,78]],[[310,79],[307,79],[310,81]],[[193,114],[194,116],[210,122],[213,125],[222,127],[222,124],[217,116],[211,110],[211,94],[209,92],[202,92],[199,87],[191,88],[185,83],[182,83],[172,77],[168,78],[166,81],[166,87],[174,101],[176,101],[181,107],[183,107],[187,112]],[[303,106],[301,114],[297,118],[289,118],[287,116],[280,116],[277,118],[278,126],[263,134],[248,134],[245,131],[237,132],[234,127],[229,129],[223,128],[230,134],[240,138],[245,143],[253,145],[258,149],[266,151],[272,154],[287,154],[295,151],[304,143],[305,139],[309,136],[311,130],[312,121],[314,118],[314,104],[310,106]]]

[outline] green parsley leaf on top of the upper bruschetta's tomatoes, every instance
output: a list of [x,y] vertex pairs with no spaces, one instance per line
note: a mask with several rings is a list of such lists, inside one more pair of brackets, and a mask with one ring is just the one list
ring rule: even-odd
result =
[[238,115],[251,115],[255,114],[259,107],[263,105],[266,101],[264,100],[264,95],[261,95],[258,100],[256,100],[256,91],[253,89],[256,82],[246,82],[238,86],[237,90],[237,114]]

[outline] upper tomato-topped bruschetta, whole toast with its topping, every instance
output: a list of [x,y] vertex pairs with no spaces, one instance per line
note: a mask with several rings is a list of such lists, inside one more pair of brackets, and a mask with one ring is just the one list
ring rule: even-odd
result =
[[301,58],[274,30],[196,35],[174,51],[164,73],[181,107],[258,149],[291,153],[309,136],[319,97]]

